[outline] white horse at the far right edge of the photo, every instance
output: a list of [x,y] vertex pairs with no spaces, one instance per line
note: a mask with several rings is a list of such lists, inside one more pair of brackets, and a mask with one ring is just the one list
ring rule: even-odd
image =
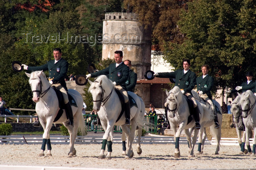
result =
[[242,110],[242,117],[243,122],[245,125],[245,144],[248,148],[248,152],[251,153],[250,148],[250,132],[251,130],[254,131],[253,135],[253,149],[252,149],[252,155],[255,155],[255,149],[256,149],[256,96],[253,94],[251,90],[247,90],[246,92],[242,93],[239,104],[241,106]]

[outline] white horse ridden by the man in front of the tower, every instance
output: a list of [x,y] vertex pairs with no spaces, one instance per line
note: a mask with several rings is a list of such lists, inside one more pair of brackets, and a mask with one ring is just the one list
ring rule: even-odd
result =
[[[138,145],[137,145],[137,153],[141,154],[142,150],[140,149],[140,137],[142,135],[142,125],[144,119],[145,105],[143,100],[132,92],[128,92],[130,96],[135,100],[137,107],[131,107],[131,130],[130,126],[124,125],[125,115],[124,111],[122,111],[121,102],[119,97],[114,89],[114,85],[111,80],[109,80],[105,75],[98,76],[98,78],[91,82],[89,80],[91,86],[89,87],[89,92],[91,92],[93,96],[93,109],[97,111],[99,119],[101,120],[101,125],[105,130],[105,134],[103,135],[103,142],[101,147],[101,152],[99,153],[99,159],[105,158],[104,152],[106,149],[106,145],[108,145],[108,154],[106,158],[111,158],[112,153],[112,141],[113,141],[113,127],[114,125],[120,125],[123,133],[126,134],[127,137],[127,155],[125,158],[133,157],[132,151],[132,142],[135,136],[135,130],[138,126]],[[120,116],[118,120],[118,116]],[[125,136],[122,135],[123,148],[125,143]],[[125,151],[123,152],[125,154]]]

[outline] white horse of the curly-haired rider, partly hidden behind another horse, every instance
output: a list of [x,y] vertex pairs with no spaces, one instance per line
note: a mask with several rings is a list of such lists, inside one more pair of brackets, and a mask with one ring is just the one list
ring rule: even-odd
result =
[[[199,154],[203,154],[203,148],[204,148],[204,142],[206,139],[206,134],[205,134],[205,127],[210,127],[210,131],[212,136],[216,139],[217,141],[217,147],[215,150],[215,155],[219,154],[219,146],[220,146],[220,141],[221,141],[221,125],[222,125],[222,110],[221,110],[221,105],[216,102],[215,100],[212,100],[212,103],[214,104],[215,107],[218,108],[218,110],[221,113],[218,113],[218,122],[219,122],[219,128],[214,128],[214,119],[213,116],[210,116],[210,119],[208,116],[206,115],[211,115],[213,114],[212,108],[209,104],[205,103],[200,97],[199,95],[196,93],[196,91],[192,90],[192,95],[194,96],[194,98],[196,100],[198,100],[202,107],[203,107],[203,111],[204,111],[204,117],[201,120],[200,118],[200,122],[202,121],[202,123],[200,123],[201,128],[199,131],[199,135],[198,135],[198,150],[196,152],[197,155]],[[192,133],[193,129],[190,130],[190,133]]]

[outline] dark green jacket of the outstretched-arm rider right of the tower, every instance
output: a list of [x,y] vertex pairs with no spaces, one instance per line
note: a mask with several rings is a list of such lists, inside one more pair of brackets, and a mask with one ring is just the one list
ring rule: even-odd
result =
[[159,78],[174,78],[175,86],[180,87],[186,93],[191,93],[191,90],[196,85],[196,74],[191,70],[188,70],[186,74],[184,74],[184,70],[175,70],[174,72],[159,72]]

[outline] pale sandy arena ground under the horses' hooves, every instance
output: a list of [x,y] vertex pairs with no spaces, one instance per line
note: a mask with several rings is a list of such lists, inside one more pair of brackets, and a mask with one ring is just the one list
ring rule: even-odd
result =
[[101,149],[101,145],[98,144],[75,145],[76,157],[67,157],[68,145],[52,145],[52,157],[38,157],[40,148],[41,145],[0,145],[0,165],[135,170],[256,168],[256,157],[239,155],[239,146],[221,146],[219,155],[214,155],[216,146],[206,145],[203,155],[188,158],[187,145],[180,145],[181,156],[174,158],[173,144],[142,144],[141,155],[137,154],[136,144],[133,144],[134,157],[131,159],[125,159],[121,154],[121,144],[113,144],[112,159],[98,159]]

